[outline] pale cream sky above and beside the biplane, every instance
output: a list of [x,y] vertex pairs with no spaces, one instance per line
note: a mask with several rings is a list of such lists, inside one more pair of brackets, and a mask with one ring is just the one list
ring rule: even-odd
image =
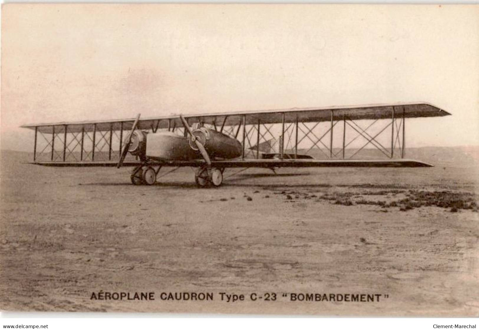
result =
[[477,5],[7,4],[3,149],[23,124],[430,102],[407,146],[479,145]]

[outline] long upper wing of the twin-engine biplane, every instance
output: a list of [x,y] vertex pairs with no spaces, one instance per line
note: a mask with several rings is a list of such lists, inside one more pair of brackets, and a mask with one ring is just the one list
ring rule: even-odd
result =
[[[262,124],[292,123],[292,122],[321,122],[332,120],[360,119],[384,119],[390,118],[393,113],[405,118],[445,116],[450,113],[429,103],[400,103],[400,104],[378,104],[359,106],[334,106],[317,108],[293,108],[284,110],[265,110],[233,113],[211,113],[184,115],[188,123],[205,123],[215,126],[230,126],[240,123],[255,125],[260,121]],[[244,120],[244,122],[243,122]],[[68,127],[68,133],[129,130],[135,121],[130,119],[80,121],[80,122],[58,122],[47,124],[22,125],[22,127],[37,129],[44,134],[62,133]],[[182,127],[179,115],[157,116],[142,118],[138,123],[139,129],[157,129]]]

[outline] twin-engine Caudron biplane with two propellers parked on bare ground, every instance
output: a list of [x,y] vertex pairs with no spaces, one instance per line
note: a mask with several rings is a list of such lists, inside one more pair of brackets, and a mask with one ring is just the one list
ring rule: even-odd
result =
[[[35,132],[31,163],[36,165],[132,166],[131,182],[148,185],[157,182],[162,167],[189,166],[197,168],[199,187],[212,187],[222,184],[227,168],[431,167],[404,159],[405,119],[445,115],[450,113],[429,103],[403,103],[149,118],[138,114],[136,119],[22,127]],[[358,124],[361,120],[368,125]],[[386,124],[371,133],[377,122]],[[390,147],[380,135],[387,136]],[[362,147],[348,148],[360,140]],[[367,146],[384,158],[360,158]],[[321,159],[308,155],[312,150],[320,151]]]

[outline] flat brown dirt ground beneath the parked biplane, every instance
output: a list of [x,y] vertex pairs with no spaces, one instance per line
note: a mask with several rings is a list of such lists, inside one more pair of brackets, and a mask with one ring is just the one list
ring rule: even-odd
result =
[[[246,170],[205,190],[190,168],[133,186],[129,168],[46,168],[22,157],[1,156],[1,309],[479,315],[474,167]],[[100,291],[156,298],[91,300]],[[163,301],[161,292],[215,295]],[[227,303],[219,292],[247,300]],[[282,295],[291,293],[382,299]]]

